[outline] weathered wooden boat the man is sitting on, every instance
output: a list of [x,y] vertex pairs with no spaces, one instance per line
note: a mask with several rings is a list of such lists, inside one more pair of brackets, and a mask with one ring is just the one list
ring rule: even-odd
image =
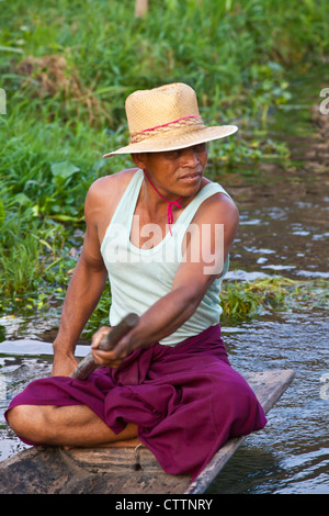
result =
[[[276,403],[294,379],[292,370],[243,374],[264,412]],[[138,440],[111,447],[31,447],[0,463],[1,494],[200,494],[204,493],[246,437],[223,446],[191,483],[171,475]]]

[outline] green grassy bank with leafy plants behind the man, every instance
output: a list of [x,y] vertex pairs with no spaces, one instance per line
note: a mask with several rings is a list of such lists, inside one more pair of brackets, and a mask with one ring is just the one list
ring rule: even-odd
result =
[[126,143],[133,90],[185,81],[207,124],[239,125],[211,148],[211,176],[287,158],[266,120],[290,99],[287,71],[328,55],[328,2],[149,3],[145,19],[131,0],[0,3],[0,312],[61,301],[88,187],[131,164],[102,155]]

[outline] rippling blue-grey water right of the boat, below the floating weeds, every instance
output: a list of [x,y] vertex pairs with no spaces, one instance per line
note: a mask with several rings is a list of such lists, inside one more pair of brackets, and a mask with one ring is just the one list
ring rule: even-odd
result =
[[321,313],[311,324],[307,314],[288,313],[224,329],[235,369],[294,369],[296,377],[211,493],[329,494],[328,329]]

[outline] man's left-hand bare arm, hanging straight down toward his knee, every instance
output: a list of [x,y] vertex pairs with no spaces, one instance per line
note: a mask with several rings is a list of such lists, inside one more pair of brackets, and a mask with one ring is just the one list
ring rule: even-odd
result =
[[97,194],[91,189],[84,206],[87,231],[82,251],[68,287],[54,341],[53,375],[69,375],[77,367],[77,341],[105,287],[107,271],[100,253],[97,227],[99,205]]

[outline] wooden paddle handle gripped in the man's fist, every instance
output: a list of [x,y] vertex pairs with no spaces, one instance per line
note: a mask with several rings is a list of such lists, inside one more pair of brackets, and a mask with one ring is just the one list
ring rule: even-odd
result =
[[[137,326],[139,322],[139,317],[137,314],[131,313],[126,315],[117,326],[114,326],[112,330],[102,338],[99,349],[102,351],[110,351],[115,347],[118,340],[124,337],[131,329]],[[86,380],[89,374],[92,373],[98,366],[94,360],[92,354],[88,354],[87,357],[81,360],[79,366],[75,369],[75,371],[70,374],[71,378],[76,378],[77,380]]]

